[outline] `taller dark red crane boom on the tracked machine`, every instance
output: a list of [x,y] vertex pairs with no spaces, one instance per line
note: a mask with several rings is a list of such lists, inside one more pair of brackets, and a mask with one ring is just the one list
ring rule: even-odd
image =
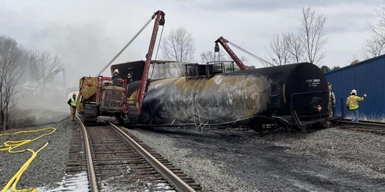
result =
[[156,15],[155,23],[154,23],[154,28],[152,29],[152,35],[151,35],[151,41],[150,41],[150,46],[148,48],[148,52],[146,55],[146,63],[144,63],[144,70],[143,70],[143,75],[142,75],[142,80],[141,80],[141,85],[138,90],[138,96],[137,100],[139,101],[139,106],[138,106],[138,111],[137,113],[140,114],[141,108],[142,108],[142,102],[144,99],[144,91],[146,90],[146,85],[147,85],[147,78],[148,78],[148,73],[150,69],[150,63],[151,63],[151,57],[152,57],[152,52],[154,51],[154,46],[155,46],[155,41],[156,41],[156,36],[158,33],[159,25],[163,26],[164,25],[164,15],[166,15],[164,12],[161,10],[158,10],[157,12],[154,13],[154,16]]

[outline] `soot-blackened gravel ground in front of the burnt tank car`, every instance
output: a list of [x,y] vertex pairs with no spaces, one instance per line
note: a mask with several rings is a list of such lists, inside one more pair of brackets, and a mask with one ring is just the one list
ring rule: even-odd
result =
[[260,137],[237,129],[129,132],[202,185],[203,191],[383,191],[385,137],[325,129]]

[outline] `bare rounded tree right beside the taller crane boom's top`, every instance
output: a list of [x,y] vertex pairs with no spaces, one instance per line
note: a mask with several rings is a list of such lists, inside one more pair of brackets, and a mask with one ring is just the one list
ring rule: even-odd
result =
[[161,50],[164,59],[188,62],[194,59],[195,40],[186,28],[179,27],[171,30],[162,41]]

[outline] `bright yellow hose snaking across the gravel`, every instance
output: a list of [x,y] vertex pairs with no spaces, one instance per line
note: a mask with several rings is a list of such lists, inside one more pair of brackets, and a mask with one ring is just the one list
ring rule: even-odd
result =
[[39,153],[42,149],[44,149],[44,147],[46,147],[48,145],[48,142],[46,142],[45,145],[43,147],[40,147],[40,149],[37,150],[36,152],[33,151],[32,149],[23,149],[23,150],[19,150],[19,151],[12,151],[12,149],[15,149],[15,148],[20,147],[20,146],[22,146],[24,144],[27,144],[29,142],[35,141],[37,139],[40,139],[41,137],[50,135],[53,132],[55,132],[56,129],[53,128],[53,127],[47,127],[47,128],[44,128],[44,129],[37,129],[37,130],[30,130],[30,131],[20,131],[20,132],[14,132],[14,133],[0,134],[0,137],[1,137],[1,136],[15,135],[15,134],[20,134],[20,133],[31,133],[31,132],[45,131],[45,130],[48,130],[48,129],[52,129],[53,131],[51,131],[51,132],[49,132],[47,134],[40,135],[39,137],[35,137],[34,139],[24,139],[24,140],[19,140],[19,141],[6,141],[6,142],[4,142],[4,145],[0,146],[0,151],[8,151],[9,153],[21,153],[21,152],[24,152],[24,151],[29,151],[29,152],[32,153],[32,155],[28,159],[28,161],[25,162],[23,164],[23,166],[20,167],[20,169],[17,171],[17,173],[15,175],[13,175],[12,179],[10,179],[8,181],[7,185],[5,185],[5,187],[2,190],[2,192],[6,192],[8,190],[8,188],[12,184],[13,185],[12,185],[11,189],[12,189],[13,192],[37,192],[37,189],[21,189],[21,190],[17,190],[16,189],[16,185],[19,182],[20,177],[22,176],[23,172],[27,169],[27,167],[31,164],[33,159],[35,159],[35,157],[37,156],[37,153]]

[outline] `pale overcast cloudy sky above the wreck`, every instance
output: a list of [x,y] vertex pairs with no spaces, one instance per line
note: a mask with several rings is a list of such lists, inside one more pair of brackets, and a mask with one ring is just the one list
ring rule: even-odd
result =
[[[377,21],[373,9],[382,6],[381,0],[0,0],[0,35],[59,54],[67,81],[77,86],[82,76],[97,74],[156,10],[166,13],[163,38],[171,29],[186,27],[199,61],[219,36],[264,58],[275,34],[298,31],[301,9],[308,6],[326,15],[323,65],[345,66],[353,54],[362,60],[361,46],[369,37],[365,26]],[[144,60],[152,26],[115,63]],[[261,67],[250,57],[246,64]]]

